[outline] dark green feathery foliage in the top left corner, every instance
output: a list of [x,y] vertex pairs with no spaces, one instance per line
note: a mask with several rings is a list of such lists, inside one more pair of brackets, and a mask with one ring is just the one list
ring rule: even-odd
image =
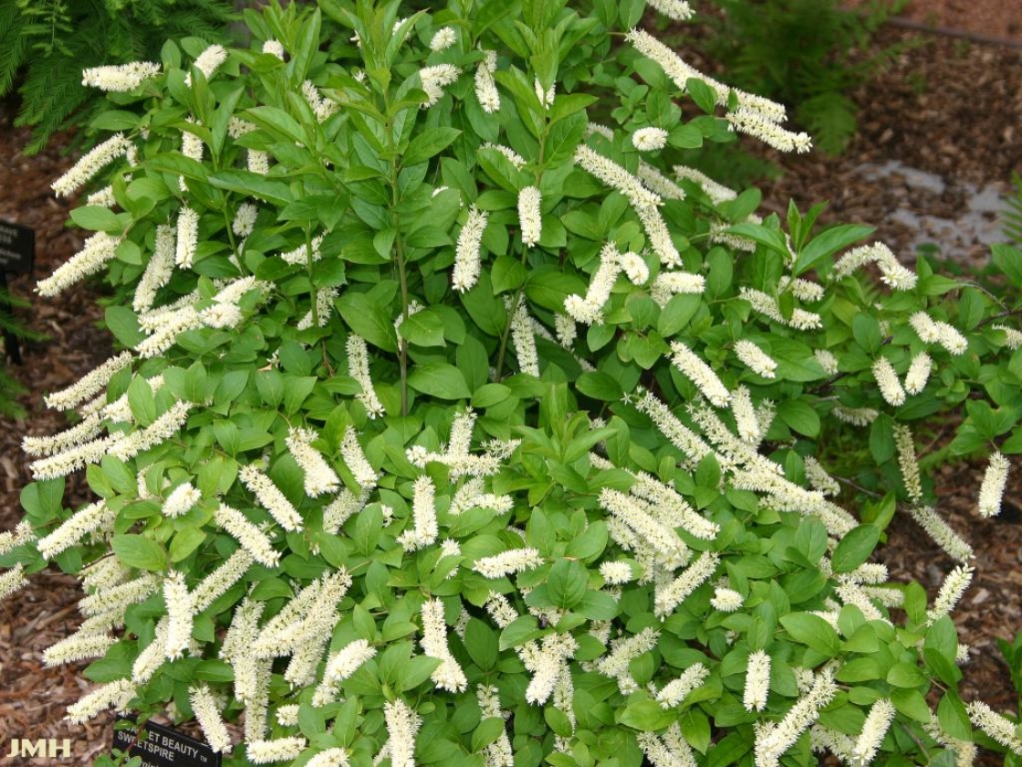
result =
[[232,10],[228,0],[3,0],[0,97],[17,90],[15,124],[34,129],[26,152],[102,108],[83,67],[147,59],[168,36],[222,41]]

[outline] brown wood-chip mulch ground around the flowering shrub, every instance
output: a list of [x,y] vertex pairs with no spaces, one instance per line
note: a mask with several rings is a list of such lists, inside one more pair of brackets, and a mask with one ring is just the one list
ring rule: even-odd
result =
[[[914,232],[897,223],[898,211],[956,218],[974,187],[1009,189],[1013,171],[1022,171],[1022,5],[1017,0],[943,0],[916,2],[908,10],[909,26],[947,28],[957,36],[885,28],[880,45],[899,41],[911,46],[879,78],[854,94],[862,108],[861,134],[838,159],[816,152],[808,156],[772,156],[784,170],[777,181],[761,184],[768,210],[783,211],[789,198],[804,210],[830,200],[825,221],[854,221],[878,226],[883,238],[911,261]],[[964,36],[963,36],[964,35]],[[978,36],[982,41],[970,39]],[[985,42],[1002,38],[1007,44]],[[38,237],[35,279],[45,276],[82,243],[82,235],[65,226],[71,205],[57,200],[49,183],[71,164],[61,153],[67,139],[33,157],[19,152],[28,134],[11,126],[13,105],[0,105],[0,219],[32,226]],[[897,174],[870,178],[864,164],[899,161],[939,175],[939,192],[927,191]],[[970,186],[972,185],[972,186]],[[902,217],[903,218],[903,217]],[[957,232],[933,232],[933,241],[955,259],[951,268],[982,266],[987,247]],[[962,265],[965,267],[962,267]],[[16,295],[32,296],[34,282],[14,278]],[[24,363],[9,365],[27,391],[19,401],[29,411],[24,420],[0,420],[0,530],[20,518],[19,489],[28,482],[27,461],[18,443],[25,434],[49,434],[63,418],[42,407],[42,395],[77,380],[111,353],[100,329],[95,285],[64,294],[59,301],[34,301],[21,312],[48,340],[29,344]],[[934,436],[927,451],[946,437]],[[957,613],[962,640],[971,644],[973,660],[965,667],[966,700],[982,697],[996,710],[1015,711],[1016,692],[1000,660],[997,638],[1010,639],[1022,628],[1022,466],[1015,465],[1006,513],[985,521],[975,512],[982,465],[955,464],[937,475],[941,512],[976,550],[976,580]],[[82,503],[88,491],[81,479],[68,481],[68,502]],[[918,579],[935,593],[950,562],[910,522],[895,520],[880,554],[894,580]],[[15,599],[0,602],[0,750],[8,737],[69,738],[71,760],[34,759],[26,763],[90,764],[108,748],[111,719],[100,717],[86,726],[61,720],[89,683],[81,666],[45,669],[42,650],[72,633],[79,622],[74,578],[52,570],[32,577],[32,585]],[[0,753],[0,758],[5,756]],[[4,764],[17,764],[6,759]],[[985,764],[997,764],[992,755]]]

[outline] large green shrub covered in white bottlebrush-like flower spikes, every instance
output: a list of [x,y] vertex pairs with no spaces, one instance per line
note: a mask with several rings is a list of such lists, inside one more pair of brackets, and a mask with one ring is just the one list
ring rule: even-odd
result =
[[[194,718],[232,765],[1022,752],[957,692],[972,551],[914,436],[962,412],[997,512],[1017,307],[670,170],[808,137],[643,2],[568,6],[292,3],[247,14],[250,49],[87,75],[118,133],[54,188],[99,186],[72,216],[95,234],[39,290],[105,272],[126,351],[47,397],[78,418],[25,439],[0,540],[5,595],[82,577],[45,656],[96,659],[68,718]],[[83,468],[97,499],[64,509]],[[932,600],[870,561],[895,513],[947,553]]]

